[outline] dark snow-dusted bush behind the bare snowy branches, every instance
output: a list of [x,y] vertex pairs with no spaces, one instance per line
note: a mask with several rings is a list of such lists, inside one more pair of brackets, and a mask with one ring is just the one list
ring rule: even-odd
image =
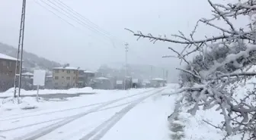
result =
[[[240,51],[245,51],[246,49],[245,43],[243,43],[242,41],[238,41],[237,43],[234,43],[231,46],[226,46],[226,45],[219,45],[217,47],[213,47],[213,46],[215,45],[212,45],[211,48],[208,48],[209,51],[206,51],[203,54],[196,55],[193,61],[191,61],[190,64],[199,73],[202,70],[209,70],[210,67],[212,67],[215,62],[222,63],[222,61],[225,61],[225,58],[229,54],[238,54]],[[252,53],[250,54],[250,58],[255,58]],[[242,61],[243,61],[243,58],[240,57],[235,61],[231,61],[225,64],[222,67],[218,67],[216,70],[221,73],[234,72],[235,70],[238,70],[241,68],[239,67],[238,64],[240,64]],[[191,70],[191,67],[187,64],[187,66],[185,67],[185,70]],[[194,83],[200,83],[200,80],[197,79],[197,77],[191,75],[190,73],[186,73],[184,71],[180,72],[180,77],[181,77],[182,85],[193,86]]]

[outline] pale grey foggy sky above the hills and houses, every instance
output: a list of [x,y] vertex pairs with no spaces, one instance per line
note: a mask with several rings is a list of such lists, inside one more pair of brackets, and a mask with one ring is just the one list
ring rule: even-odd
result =
[[[178,30],[190,33],[197,20],[211,16],[206,0],[62,0],[117,38],[110,40],[54,11],[75,27],[69,25],[35,1],[50,8],[40,0],[27,0],[24,49],[62,64],[70,63],[91,70],[101,64],[124,62],[124,43],[120,40],[130,44],[128,63],[168,65],[174,70],[174,67],[179,67],[179,61],[162,56],[172,54],[168,47],[182,49],[182,45],[152,44],[148,39],[136,41],[135,36],[123,29],[140,30],[155,36],[165,34],[171,38],[171,34],[178,33]],[[0,0],[0,18],[0,42],[17,47],[21,0]],[[203,25],[197,32],[200,33],[197,37],[219,33],[206,30]]]

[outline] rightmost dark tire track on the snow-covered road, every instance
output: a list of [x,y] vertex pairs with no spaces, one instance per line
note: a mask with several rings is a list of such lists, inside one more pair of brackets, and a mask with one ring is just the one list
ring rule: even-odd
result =
[[110,117],[110,119],[104,121],[104,123],[101,123],[101,125],[97,126],[95,129],[93,129],[91,132],[89,132],[84,137],[80,138],[80,140],[89,140],[89,139],[99,140],[99,139],[101,139],[116,123],[119,122],[119,120],[121,120],[131,109],[133,109],[133,107],[136,107],[137,104],[141,103],[146,98],[149,98],[152,95],[162,92],[163,90],[164,89],[161,89],[157,92],[154,92],[150,95],[147,95],[145,97],[137,99],[136,101],[133,101],[132,104],[129,104],[128,106],[124,107],[122,110],[118,111],[116,114],[114,114],[114,116]]

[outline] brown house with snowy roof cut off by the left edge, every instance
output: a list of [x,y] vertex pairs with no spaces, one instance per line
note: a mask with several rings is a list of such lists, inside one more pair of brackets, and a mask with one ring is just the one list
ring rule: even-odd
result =
[[[0,53],[0,92],[14,86],[16,62],[17,58]],[[18,72],[19,64],[18,61]]]

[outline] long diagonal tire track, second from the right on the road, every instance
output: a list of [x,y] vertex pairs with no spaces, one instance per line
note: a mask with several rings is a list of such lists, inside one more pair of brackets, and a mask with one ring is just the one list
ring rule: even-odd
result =
[[86,112],[84,112],[82,114],[76,114],[76,115],[74,115],[72,117],[67,118],[66,120],[62,120],[62,121],[59,121],[57,123],[53,123],[50,126],[45,126],[45,127],[41,128],[41,129],[37,129],[34,132],[30,132],[30,133],[27,133],[26,135],[23,135],[21,137],[14,138],[14,140],[35,140],[37,138],[42,137],[43,135],[46,135],[46,134],[48,134],[50,132],[53,132],[55,129],[58,129],[61,126],[64,126],[64,125],[66,125],[68,123],[71,123],[74,120],[78,120],[79,118],[84,117],[85,115],[88,115],[88,114],[91,114],[91,113],[93,113],[93,112],[95,112],[97,110],[100,110],[101,108],[106,107],[107,105],[114,104],[115,102],[122,101],[123,99],[126,99],[126,98],[131,98],[131,97],[134,97],[134,96],[137,96],[137,95],[145,94],[147,92],[152,92],[154,90],[157,90],[157,89],[151,89],[149,91],[141,92],[141,93],[136,94],[136,95],[130,95],[130,96],[126,96],[126,97],[123,97],[123,98],[117,98],[115,100],[108,101],[107,103],[101,104],[98,107],[91,108],[90,110],[88,110],[88,111],[86,111]]

